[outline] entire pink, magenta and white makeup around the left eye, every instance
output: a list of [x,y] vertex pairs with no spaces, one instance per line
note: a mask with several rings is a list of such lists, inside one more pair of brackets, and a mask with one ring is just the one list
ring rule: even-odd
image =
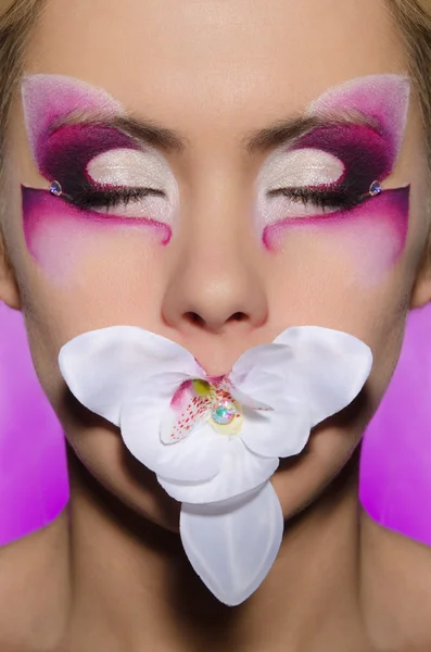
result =
[[[79,256],[88,249],[83,233],[102,227],[106,235],[144,227],[154,241],[167,244],[177,184],[159,151],[107,124],[125,115],[123,106],[102,89],[59,75],[27,77],[22,93],[39,172],[47,186],[56,180],[62,189],[54,197],[48,188],[22,188],[25,239],[39,264],[63,277],[67,265],[53,243],[66,246],[71,260],[72,252]],[[61,237],[61,227],[67,237]]]

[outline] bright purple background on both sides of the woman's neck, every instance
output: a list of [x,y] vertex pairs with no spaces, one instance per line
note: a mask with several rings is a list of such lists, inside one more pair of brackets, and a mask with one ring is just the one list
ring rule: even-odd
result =
[[[360,499],[372,518],[431,546],[431,305],[364,441]],[[62,429],[36,378],[21,313],[0,302],[0,546],[50,523],[68,499]]]

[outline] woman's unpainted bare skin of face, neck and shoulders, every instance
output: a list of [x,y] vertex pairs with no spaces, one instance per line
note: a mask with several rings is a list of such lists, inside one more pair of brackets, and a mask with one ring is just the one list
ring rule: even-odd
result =
[[[341,82],[404,74],[385,7],[380,0],[360,8],[355,0],[256,0],[253,11],[245,0],[48,5],[27,49],[27,73],[100,86],[137,115],[179,130],[189,145],[168,156],[180,191],[177,237],[160,247],[126,233],[106,235],[92,251],[87,244],[91,255],[65,288],[26,247],[21,184],[47,188],[47,181],[16,98],[3,216],[12,269],[0,268],[0,296],[23,311],[37,373],[65,427],[72,498],[55,523],[0,553],[1,649],[428,650],[431,554],[373,524],[357,499],[360,437],[396,364],[408,310],[431,299],[431,275],[420,267],[430,217],[417,103],[385,180],[388,188],[411,185],[407,240],[371,285],[340,267],[335,231],[325,246],[309,231],[286,238],[277,255],[262,247],[250,215],[267,153],[245,154],[240,142]],[[176,535],[178,504],[126,452],[118,432],[65,391],[60,348],[79,333],[122,323],[179,342],[214,376],[289,325],[344,330],[373,351],[366,392],[317,428],[306,453],[274,477],[288,518],[283,544],[265,584],[237,610],[218,604],[195,579]]]

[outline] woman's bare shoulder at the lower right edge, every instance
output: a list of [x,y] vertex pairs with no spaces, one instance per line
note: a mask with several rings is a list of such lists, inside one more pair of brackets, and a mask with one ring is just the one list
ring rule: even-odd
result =
[[431,650],[431,547],[363,517],[362,602],[377,648]]

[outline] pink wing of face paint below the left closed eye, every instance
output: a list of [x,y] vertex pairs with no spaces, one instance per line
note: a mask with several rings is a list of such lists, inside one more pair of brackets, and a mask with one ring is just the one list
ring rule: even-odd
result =
[[23,226],[28,251],[50,280],[71,285],[91,261],[123,242],[154,249],[172,237],[166,224],[151,218],[111,216],[78,210],[46,190],[23,188]]

